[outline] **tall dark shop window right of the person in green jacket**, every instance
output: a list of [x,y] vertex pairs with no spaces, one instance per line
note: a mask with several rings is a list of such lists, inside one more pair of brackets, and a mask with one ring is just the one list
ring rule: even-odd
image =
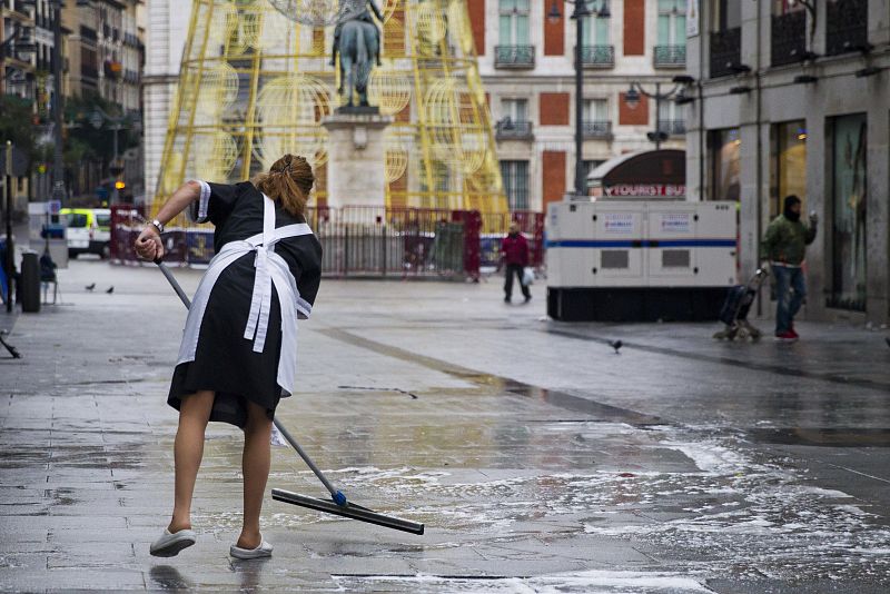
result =
[[830,307],[866,310],[866,184],[864,113],[829,120],[831,132],[831,261]]

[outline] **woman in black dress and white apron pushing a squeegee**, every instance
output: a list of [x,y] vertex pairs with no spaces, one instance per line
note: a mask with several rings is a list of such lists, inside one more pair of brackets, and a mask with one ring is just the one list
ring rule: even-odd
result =
[[244,429],[244,526],[229,553],[271,555],[259,532],[269,476],[275,408],[294,388],[297,318],[307,318],[320,281],[322,246],[304,217],[314,182],[303,157],[286,155],[253,181],[189,181],[136,240],[146,259],[164,255],[164,225],[186,208],[216,226],[216,257],[195,294],[167,403],[179,410],[174,446],[172,519],[151,554],[172,556],[195,544],[191,496],[209,420]]

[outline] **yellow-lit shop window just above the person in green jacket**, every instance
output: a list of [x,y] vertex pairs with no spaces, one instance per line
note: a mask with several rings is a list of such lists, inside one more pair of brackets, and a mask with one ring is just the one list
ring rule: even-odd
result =
[[770,219],[773,219],[782,212],[785,196],[798,196],[807,208],[807,122],[773,125],[770,143]]

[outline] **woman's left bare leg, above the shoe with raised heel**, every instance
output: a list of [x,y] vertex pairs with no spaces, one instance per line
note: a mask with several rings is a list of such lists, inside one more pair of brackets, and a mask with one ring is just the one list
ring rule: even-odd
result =
[[210,419],[216,394],[198,392],[182,398],[179,407],[179,429],[176,432],[176,491],[174,517],[167,529],[171,533],[191,528],[191,495],[204,456],[204,430]]

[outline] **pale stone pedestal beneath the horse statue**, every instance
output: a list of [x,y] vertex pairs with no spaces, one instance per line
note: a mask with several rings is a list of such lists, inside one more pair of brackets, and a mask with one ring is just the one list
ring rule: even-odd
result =
[[390,116],[339,111],[322,120],[328,131],[327,205],[386,206],[386,149]]

